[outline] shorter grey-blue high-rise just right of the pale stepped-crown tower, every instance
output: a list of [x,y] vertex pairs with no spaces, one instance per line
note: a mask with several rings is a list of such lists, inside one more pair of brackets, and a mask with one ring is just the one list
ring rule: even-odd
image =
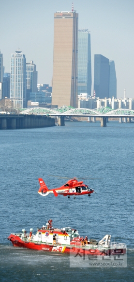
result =
[[38,71],[36,71],[36,65],[33,61],[26,63],[27,101],[30,100],[30,92],[37,92],[37,78]]

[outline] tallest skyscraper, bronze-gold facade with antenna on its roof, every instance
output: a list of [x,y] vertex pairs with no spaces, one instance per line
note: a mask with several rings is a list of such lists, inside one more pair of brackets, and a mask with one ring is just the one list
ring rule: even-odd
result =
[[52,107],[77,107],[78,14],[54,14]]

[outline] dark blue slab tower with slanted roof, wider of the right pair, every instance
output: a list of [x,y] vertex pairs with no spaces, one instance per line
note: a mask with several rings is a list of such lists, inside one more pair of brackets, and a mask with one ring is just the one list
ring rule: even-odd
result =
[[94,91],[96,97],[109,97],[109,59],[94,55]]

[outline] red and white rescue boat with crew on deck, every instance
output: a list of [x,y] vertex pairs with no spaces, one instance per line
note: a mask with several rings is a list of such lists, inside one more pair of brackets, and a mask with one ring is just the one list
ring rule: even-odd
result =
[[80,237],[77,229],[63,227],[53,228],[52,219],[46,225],[38,228],[36,234],[30,229],[28,234],[25,229],[22,232],[11,233],[7,238],[14,247],[24,247],[34,250],[42,250],[60,253],[78,253],[84,250],[85,254],[90,255],[116,255],[125,254],[126,245],[124,243],[111,242],[111,235],[107,234],[100,241],[95,239],[88,240]]

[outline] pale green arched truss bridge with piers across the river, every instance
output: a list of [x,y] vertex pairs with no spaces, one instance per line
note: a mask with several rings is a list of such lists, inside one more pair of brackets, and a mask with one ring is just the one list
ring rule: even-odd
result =
[[87,108],[73,108],[71,106],[62,106],[55,109],[50,108],[44,108],[44,107],[34,107],[29,109],[24,109],[21,111],[21,114],[23,115],[46,115],[46,116],[52,116],[52,117],[58,117],[59,118],[59,125],[63,126],[64,118],[65,117],[87,117],[88,122],[96,122],[96,117],[101,118],[101,126],[106,126],[106,122],[108,121],[108,118],[119,118],[119,123],[122,123],[122,120],[124,123],[127,121],[131,123],[132,120],[134,120],[134,110],[131,109],[111,109],[109,107],[101,107],[98,109],[87,109]]

